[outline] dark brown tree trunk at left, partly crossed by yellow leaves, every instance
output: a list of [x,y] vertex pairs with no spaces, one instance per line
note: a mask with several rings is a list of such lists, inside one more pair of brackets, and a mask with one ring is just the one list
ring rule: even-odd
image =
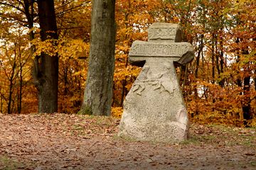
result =
[[[53,0],[38,0],[41,40],[58,39]],[[33,78],[38,89],[38,112],[58,111],[58,56],[41,53],[36,57]]]

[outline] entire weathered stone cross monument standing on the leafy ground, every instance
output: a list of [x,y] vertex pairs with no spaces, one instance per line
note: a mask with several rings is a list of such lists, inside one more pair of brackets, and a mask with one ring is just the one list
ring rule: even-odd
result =
[[134,41],[129,62],[144,66],[124,100],[119,136],[153,142],[180,142],[188,136],[188,115],[174,62],[193,60],[193,46],[181,42],[181,28],[153,23],[149,40]]

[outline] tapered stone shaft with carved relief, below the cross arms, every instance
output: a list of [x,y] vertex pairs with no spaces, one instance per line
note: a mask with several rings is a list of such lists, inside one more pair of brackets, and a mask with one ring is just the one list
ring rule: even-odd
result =
[[[174,64],[159,62],[148,60],[127,94],[119,136],[152,142],[187,139],[188,115]],[[164,67],[159,68],[160,64]]]

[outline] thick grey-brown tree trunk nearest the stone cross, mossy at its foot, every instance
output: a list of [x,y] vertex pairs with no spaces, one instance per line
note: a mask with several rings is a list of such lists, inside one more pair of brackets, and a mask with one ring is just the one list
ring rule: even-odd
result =
[[92,1],[87,82],[80,114],[110,115],[114,75],[115,0]]

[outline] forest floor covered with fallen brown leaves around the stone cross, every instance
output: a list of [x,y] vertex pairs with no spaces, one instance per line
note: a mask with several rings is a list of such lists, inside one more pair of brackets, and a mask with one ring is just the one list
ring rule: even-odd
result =
[[0,113],[0,169],[256,169],[256,129],[192,124],[176,144],[117,137],[119,119]]

